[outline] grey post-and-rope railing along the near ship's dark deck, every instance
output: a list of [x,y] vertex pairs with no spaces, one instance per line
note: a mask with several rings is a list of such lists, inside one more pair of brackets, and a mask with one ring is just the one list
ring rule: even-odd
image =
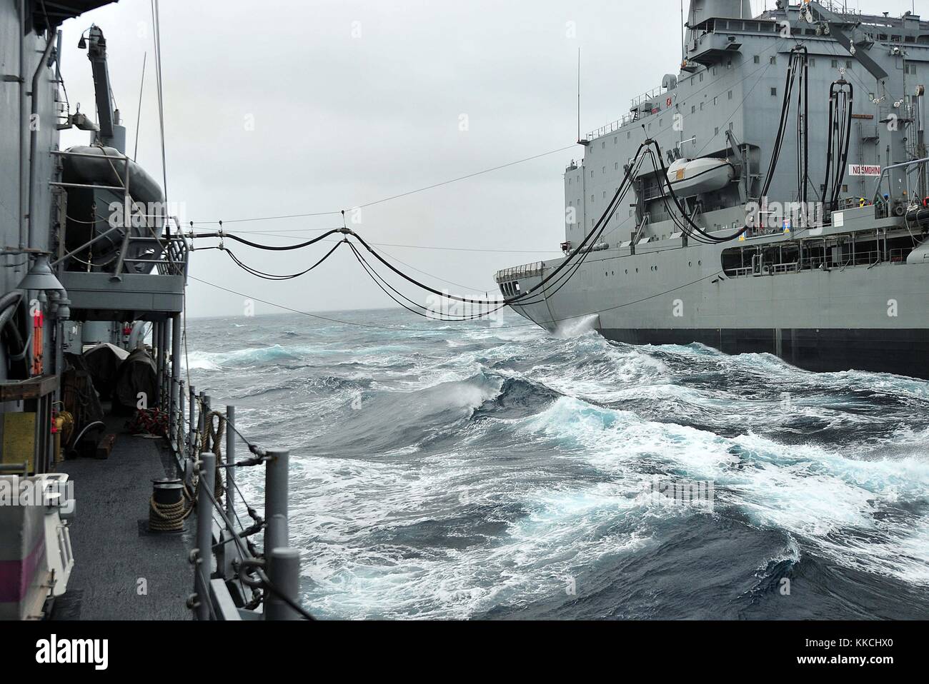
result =
[[[216,410],[209,395],[193,386],[185,392],[184,384],[174,388],[184,401],[169,421],[169,442],[185,490],[196,493],[188,606],[198,620],[312,619],[299,601],[300,552],[289,546],[290,452],[255,445],[236,425],[234,406]],[[242,458],[239,443],[248,449]],[[264,469],[263,515],[246,500],[236,474],[249,468]],[[263,537],[261,550],[253,536]]]

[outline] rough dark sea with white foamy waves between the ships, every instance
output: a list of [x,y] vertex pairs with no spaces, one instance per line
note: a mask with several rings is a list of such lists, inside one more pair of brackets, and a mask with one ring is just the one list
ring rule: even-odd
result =
[[327,316],[188,323],[198,391],[292,449],[318,617],[929,617],[929,382]]

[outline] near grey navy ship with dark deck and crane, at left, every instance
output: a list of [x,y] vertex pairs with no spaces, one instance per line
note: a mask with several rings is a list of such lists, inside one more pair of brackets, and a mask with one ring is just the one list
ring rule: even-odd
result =
[[[181,374],[190,242],[166,172],[127,152],[106,36],[83,17],[107,5],[0,0],[0,620],[309,618],[288,452],[250,442]],[[151,9],[159,106],[138,111],[163,123]],[[69,20],[88,59],[72,71]],[[96,121],[66,71],[92,79]],[[62,131],[86,144],[60,148]],[[266,475],[260,514],[237,509],[249,467]]]

